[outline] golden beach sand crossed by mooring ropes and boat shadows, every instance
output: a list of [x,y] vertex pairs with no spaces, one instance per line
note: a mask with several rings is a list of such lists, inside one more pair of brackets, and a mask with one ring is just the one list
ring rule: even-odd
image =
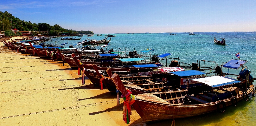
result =
[[[42,59],[0,45],[0,125],[128,125],[123,101],[61,61]],[[145,125],[132,110],[130,125]]]

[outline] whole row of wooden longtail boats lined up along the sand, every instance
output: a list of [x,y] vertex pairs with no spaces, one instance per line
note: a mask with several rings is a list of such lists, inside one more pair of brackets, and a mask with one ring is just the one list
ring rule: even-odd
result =
[[[100,50],[79,51],[58,47],[51,48],[52,51],[49,52],[49,47],[39,47],[30,42],[29,47],[23,44],[20,47],[5,41],[3,43],[11,50],[62,60],[63,63],[64,60],[70,62],[70,67],[78,68],[79,75],[83,76],[83,84],[86,75],[94,86],[100,86],[101,89],[104,86],[114,94],[122,93],[123,120],[126,123],[130,122],[131,106],[145,123],[150,124],[213,111],[224,112],[227,106],[236,106],[241,100],[247,101],[249,93],[255,93],[255,86],[252,84],[255,78],[245,66],[246,60],[231,59],[214,68],[200,66],[200,61],[207,62],[204,60],[199,61],[199,66],[198,63],[184,66],[173,60],[169,67],[167,64],[162,67],[159,59],[169,56],[170,53],[156,56],[155,59],[158,60],[150,59],[151,62],[143,63],[140,61],[144,59],[139,55],[121,58],[116,53],[104,54],[105,51]],[[242,69],[239,74],[222,71],[223,68],[240,67]],[[212,70],[215,75],[210,75],[205,70]],[[231,75],[237,78],[228,77]]]

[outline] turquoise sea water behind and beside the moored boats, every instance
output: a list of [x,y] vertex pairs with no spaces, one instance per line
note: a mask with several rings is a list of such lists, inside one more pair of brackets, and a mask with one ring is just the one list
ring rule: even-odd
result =
[[[251,70],[251,75],[256,77],[256,32],[225,32],[225,33],[175,33],[176,35],[169,35],[170,33],[134,33],[134,34],[114,34],[109,46],[105,50],[113,49],[114,51],[124,51],[126,48],[129,50],[136,50],[139,54],[140,51],[146,49],[154,49],[151,55],[160,55],[163,53],[171,53],[172,55],[167,58],[179,57],[179,62],[196,63],[197,60],[215,61],[221,65],[235,57],[235,54],[240,52],[240,59],[247,60],[245,64]],[[214,37],[226,39],[227,45],[214,44]],[[52,42],[62,44],[68,42],[66,47],[74,45],[86,38],[101,40],[105,36],[87,37],[84,35],[80,40],[61,40],[61,37],[51,39]],[[76,38],[80,38],[77,37]],[[49,42],[49,43],[52,43]],[[46,42],[48,43],[48,42]],[[100,49],[101,47],[97,47]],[[128,53],[127,53],[128,54]],[[150,53],[147,53],[150,54]],[[171,60],[167,61],[167,65]],[[198,61],[199,62],[199,61]],[[204,63],[202,65],[214,66],[214,63]],[[165,65],[165,61],[163,61]],[[241,69],[241,68],[240,68]],[[239,70],[230,69],[230,73],[238,74]],[[228,72],[228,69],[223,69]],[[256,82],[253,83],[254,85]],[[224,113],[214,112],[207,115],[192,117],[186,119],[177,119],[176,125],[192,126],[192,125],[256,125],[256,99],[250,95],[249,100],[241,101],[236,107],[227,107]],[[189,123],[191,122],[191,123]],[[170,122],[171,123],[171,122]],[[161,123],[159,123],[161,124]]]

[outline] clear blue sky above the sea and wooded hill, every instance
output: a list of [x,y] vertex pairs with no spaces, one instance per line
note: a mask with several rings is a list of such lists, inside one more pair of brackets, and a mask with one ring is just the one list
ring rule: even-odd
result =
[[32,23],[94,33],[256,31],[256,0],[1,0]]

